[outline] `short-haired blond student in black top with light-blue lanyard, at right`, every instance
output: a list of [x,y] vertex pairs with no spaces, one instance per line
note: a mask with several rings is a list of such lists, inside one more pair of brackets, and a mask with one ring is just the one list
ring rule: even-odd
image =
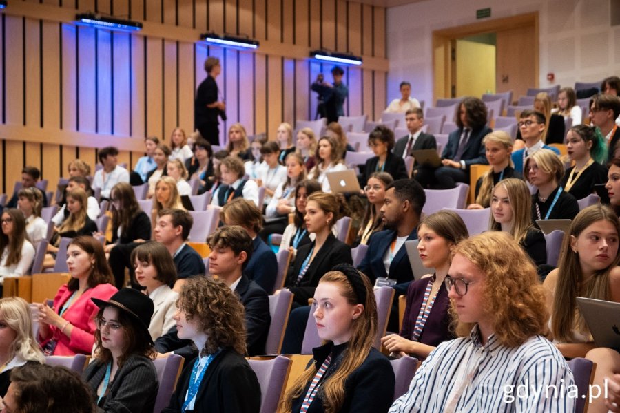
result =
[[566,193],[559,182],[564,165],[554,152],[540,149],[525,161],[526,181],[537,187],[532,195],[532,221],[572,220],[579,213],[574,196]]

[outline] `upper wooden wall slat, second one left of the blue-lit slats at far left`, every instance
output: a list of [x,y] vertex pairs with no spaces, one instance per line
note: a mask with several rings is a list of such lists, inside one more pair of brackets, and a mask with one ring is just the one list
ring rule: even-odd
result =
[[41,126],[41,30],[39,21],[25,19],[25,124]]

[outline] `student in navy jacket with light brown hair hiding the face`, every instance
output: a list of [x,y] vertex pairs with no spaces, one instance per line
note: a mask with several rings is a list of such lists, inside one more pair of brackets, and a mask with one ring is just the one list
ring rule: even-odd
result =
[[236,198],[224,205],[220,220],[226,225],[239,225],[252,239],[252,255],[247,259],[243,273],[267,293],[273,293],[278,276],[278,260],[271,248],[258,236],[262,214],[254,203]]

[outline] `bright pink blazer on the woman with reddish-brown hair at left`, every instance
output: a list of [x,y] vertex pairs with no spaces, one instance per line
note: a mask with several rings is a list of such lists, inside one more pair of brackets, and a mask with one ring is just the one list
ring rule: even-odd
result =
[[[110,299],[116,293],[116,287],[112,284],[99,284],[94,288],[89,288],[75,301],[63,314],[63,319],[69,321],[73,325],[71,338],[67,337],[60,328],[50,326],[50,338],[41,341],[41,347],[44,347],[50,339],[57,340],[56,348],[54,348],[54,356],[72,356],[76,353],[90,354],[94,344],[94,316],[99,312],[91,298]],[[54,298],[54,310],[56,313],[62,308],[63,304],[73,294],[69,290],[67,284],[59,288]]]

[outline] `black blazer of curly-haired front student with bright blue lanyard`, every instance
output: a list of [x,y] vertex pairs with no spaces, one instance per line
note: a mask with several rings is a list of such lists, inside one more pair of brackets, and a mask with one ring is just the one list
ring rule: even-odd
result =
[[[180,413],[189,388],[194,359],[183,369],[170,404],[162,413]],[[154,400],[155,398],[153,398]],[[187,412],[256,413],[260,410],[260,385],[247,360],[230,348],[223,349],[200,382],[194,410]]]

